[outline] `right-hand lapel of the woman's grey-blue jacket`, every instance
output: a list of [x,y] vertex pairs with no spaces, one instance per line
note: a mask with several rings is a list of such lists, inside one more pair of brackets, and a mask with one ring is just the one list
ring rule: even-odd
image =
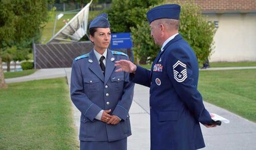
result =
[[107,83],[109,80],[109,77],[111,76],[113,70],[115,69],[115,57],[111,53],[111,51],[108,49],[108,54],[106,58],[106,72],[105,72],[105,81],[104,84]]

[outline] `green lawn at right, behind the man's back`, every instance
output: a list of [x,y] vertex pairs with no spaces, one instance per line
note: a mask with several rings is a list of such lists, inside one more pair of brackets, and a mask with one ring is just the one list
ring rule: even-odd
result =
[[256,122],[256,69],[200,71],[198,90],[206,102]]

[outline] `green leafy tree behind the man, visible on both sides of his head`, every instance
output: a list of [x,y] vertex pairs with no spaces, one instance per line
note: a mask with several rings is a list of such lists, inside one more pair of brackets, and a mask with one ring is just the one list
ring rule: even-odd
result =
[[[170,2],[163,2],[163,4],[170,4]],[[214,24],[209,24],[206,21],[198,5],[187,2],[180,5],[179,34],[191,45],[198,58],[198,63],[201,64],[207,60],[213,48]],[[152,62],[159,52],[159,47],[154,45],[148,23],[140,22],[131,31],[134,40],[134,53],[138,58],[143,60],[147,58],[149,62]]]

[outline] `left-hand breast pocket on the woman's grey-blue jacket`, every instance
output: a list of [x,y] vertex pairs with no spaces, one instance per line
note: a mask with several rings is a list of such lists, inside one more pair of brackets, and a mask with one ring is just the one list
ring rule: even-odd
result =
[[84,78],[84,90],[99,92],[100,80],[97,78]]

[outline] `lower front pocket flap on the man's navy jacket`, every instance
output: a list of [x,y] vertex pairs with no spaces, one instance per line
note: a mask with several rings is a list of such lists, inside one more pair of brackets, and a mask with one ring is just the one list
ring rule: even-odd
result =
[[178,120],[178,110],[166,110],[159,112],[159,121],[176,121]]

